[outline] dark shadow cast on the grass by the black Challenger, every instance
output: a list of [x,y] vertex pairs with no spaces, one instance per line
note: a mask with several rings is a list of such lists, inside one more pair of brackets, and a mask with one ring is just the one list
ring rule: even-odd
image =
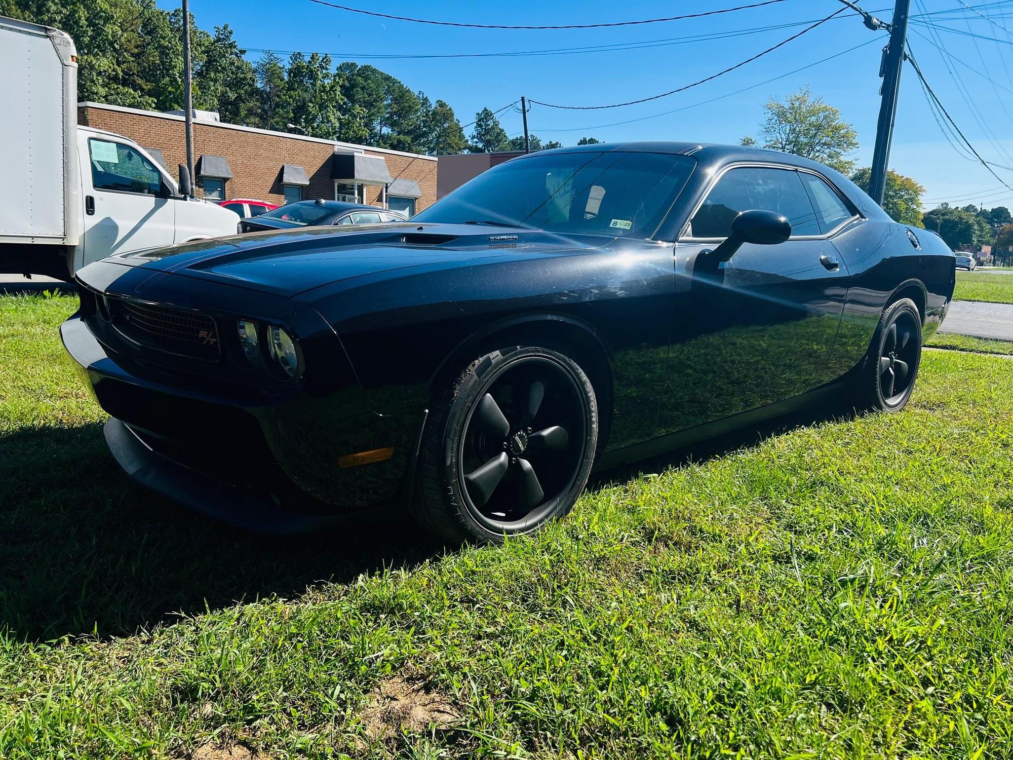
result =
[[[847,413],[796,412],[613,468],[591,487]],[[177,613],[291,599],[317,582],[416,567],[444,550],[407,516],[389,513],[313,535],[229,528],[135,485],[108,454],[98,424],[0,438],[0,630],[16,638],[130,634]]]

